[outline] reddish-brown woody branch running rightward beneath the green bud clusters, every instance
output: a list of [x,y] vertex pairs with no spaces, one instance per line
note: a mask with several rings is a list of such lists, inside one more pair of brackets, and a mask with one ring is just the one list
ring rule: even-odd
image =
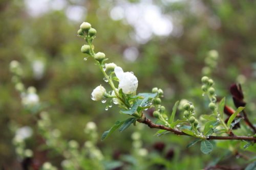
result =
[[[138,119],[138,122],[142,124],[146,124],[150,128],[166,130],[169,132],[173,132],[176,135],[190,136],[180,130],[169,128],[163,125],[154,124],[152,120],[146,118],[145,115],[142,115],[142,118]],[[207,137],[207,140],[214,140],[214,139],[216,140],[253,140],[254,142],[256,141],[256,137],[253,137],[253,136],[209,136]]]

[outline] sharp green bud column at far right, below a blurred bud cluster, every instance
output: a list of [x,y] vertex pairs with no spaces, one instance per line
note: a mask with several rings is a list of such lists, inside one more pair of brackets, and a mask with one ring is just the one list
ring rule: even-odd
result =
[[215,89],[213,87],[214,81],[206,76],[202,77],[201,81],[203,83],[202,90],[204,91],[204,94],[206,93],[210,99],[209,108],[214,111],[216,109],[217,101]]

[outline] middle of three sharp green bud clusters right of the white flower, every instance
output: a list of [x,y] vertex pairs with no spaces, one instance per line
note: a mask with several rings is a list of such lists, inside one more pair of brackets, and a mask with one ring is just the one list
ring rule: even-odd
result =
[[197,128],[198,120],[193,116],[195,115],[195,106],[187,102],[183,105],[183,109],[184,109],[184,117],[188,120],[191,126],[193,126],[194,128]]

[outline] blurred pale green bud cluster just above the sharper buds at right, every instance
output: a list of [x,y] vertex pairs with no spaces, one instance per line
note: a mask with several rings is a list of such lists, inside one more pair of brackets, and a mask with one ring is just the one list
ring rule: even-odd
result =
[[210,75],[212,70],[217,66],[217,60],[219,58],[219,53],[216,50],[210,50],[207,57],[205,58],[205,67],[202,69],[203,75]]

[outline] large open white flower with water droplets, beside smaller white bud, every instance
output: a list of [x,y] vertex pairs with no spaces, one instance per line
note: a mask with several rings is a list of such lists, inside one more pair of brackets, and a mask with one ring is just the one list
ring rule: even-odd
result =
[[118,66],[114,71],[119,79],[118,89],[122,89],[125,94],[131,94],[137,90],[138,79],[132,72],[123,72],[123,69]]

